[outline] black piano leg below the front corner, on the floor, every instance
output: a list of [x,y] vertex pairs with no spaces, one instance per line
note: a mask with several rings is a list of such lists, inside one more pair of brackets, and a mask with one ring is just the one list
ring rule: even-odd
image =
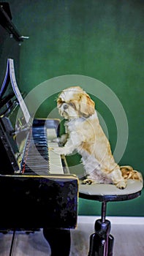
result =
[[50,244],[51,256],[69,256],[70,230],[43,228],[43,234]]

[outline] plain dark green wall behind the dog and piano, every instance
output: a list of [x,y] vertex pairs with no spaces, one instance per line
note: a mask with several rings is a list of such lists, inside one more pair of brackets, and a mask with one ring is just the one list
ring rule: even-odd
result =
[[[144,173],[143,0],[9,2],[15,26],[29,36],[20,46],[20,90],[29,93],[39,83],[61,75],[85,75],[105,83],[120,99],[129,124],[129,140],[120,164]],[[89,85],[87,88],[91,90]],[[53,97],[44,102],[37,116],[48,116],[52,105],[56,108]],[[96,108],[107,124],[114,148],[112,117],[99,99]],[[107,213],[143,216],[143,199],[142,195],[132,201],[109,203]],[[95,215],[99,209],[98,202],[79,200],[79,214]]]

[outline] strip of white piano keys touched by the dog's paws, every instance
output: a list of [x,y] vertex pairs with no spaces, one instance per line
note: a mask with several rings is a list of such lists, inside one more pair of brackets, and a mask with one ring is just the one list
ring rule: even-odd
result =
[[61,156],[53,152],[52,148],[58,148],[58,142],[53,142],[57,138],[56,129],[47,129],[49,172],[52,174],[64,174],[61,163]]

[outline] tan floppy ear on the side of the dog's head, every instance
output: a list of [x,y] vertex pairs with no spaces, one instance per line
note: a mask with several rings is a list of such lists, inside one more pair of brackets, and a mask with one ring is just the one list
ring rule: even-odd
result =
[[81,94],[80,109],[79,109],[80,116],[88,118],[89,116],[93,115],[94,112],[95,112],[94,101],[89,97],[88,94]]

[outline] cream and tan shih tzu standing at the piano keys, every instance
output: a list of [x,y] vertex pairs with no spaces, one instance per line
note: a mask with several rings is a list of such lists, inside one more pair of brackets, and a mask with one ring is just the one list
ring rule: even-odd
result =
[[110,143],[99,124],[95,104],[79,86],[69,87],[59,94],[57,108],[65,122],[67,142],[53,149],[57,154],[81,155],[86,178],[83,184],[115,184],[124,189],[127,179],[142,181],[141,173],[130,166],[119,166],[111,152]]

